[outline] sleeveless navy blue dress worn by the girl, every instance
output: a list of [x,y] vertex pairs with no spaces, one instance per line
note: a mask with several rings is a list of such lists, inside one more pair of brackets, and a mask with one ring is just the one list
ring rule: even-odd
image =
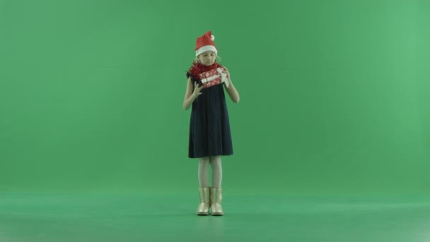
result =
[[[191,76],[194,90],[196,79],[189,72],[187,76]],[[201,92],[192,103],[188,157],[231,155],[233,144],[223,84]]]

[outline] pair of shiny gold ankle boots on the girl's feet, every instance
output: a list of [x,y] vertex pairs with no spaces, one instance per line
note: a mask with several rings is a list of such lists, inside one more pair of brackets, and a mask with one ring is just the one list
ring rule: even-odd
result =
[[209,215],[209,207],[211,215],[223,215],[222,190],[221,188],[199,188],[200,204],[197,208],[197,215]]

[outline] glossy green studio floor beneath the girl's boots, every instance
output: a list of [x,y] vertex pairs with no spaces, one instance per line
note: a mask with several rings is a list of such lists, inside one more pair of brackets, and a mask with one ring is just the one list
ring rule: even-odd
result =
[[0,194],[0,241],[430,241],[424,197]]

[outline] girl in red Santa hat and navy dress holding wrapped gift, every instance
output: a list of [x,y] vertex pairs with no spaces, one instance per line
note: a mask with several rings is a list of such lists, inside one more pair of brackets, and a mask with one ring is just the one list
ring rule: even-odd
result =
[[[234,103],[238,103],[239,93],[233,86],[227,69],[216,62],[218,50],[211,31],[197,38],[194,50],[196,59],[187,71],[187,91],[183,108],[187,110],[192,105],[188,156],[199,158],[200,204],[197,214],[208,215],[210,207],[212,215],[223,215],[221,156],[233,154],[223,88],[226,88]],[[212,170],[210,188],[209,164]]]

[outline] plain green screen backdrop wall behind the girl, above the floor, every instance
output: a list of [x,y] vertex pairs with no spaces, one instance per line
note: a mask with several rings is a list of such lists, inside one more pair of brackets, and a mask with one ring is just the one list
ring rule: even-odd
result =
[[212,30],[236,194],[424,194],[429,1],[0,0],[0,191],[195,193],[185,71]]

